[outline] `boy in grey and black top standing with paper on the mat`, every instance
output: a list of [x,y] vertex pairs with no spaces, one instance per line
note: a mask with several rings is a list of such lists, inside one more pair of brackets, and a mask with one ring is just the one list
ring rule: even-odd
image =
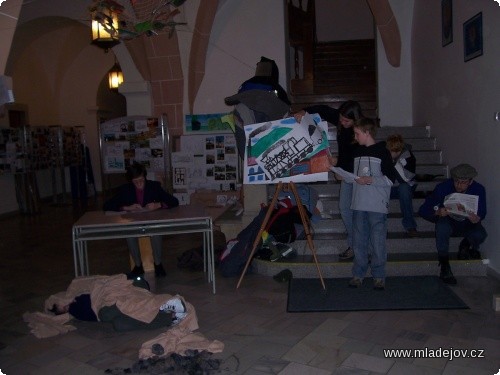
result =
[[377,124],[363,118],[354,124],[360,147],[354,153],[352,190],[354,261],[349,287],[359,288],[371,268],[373,288],[385,289],[387,262],[387,212],[391,186],[396,178],[385,142],[376,142]]

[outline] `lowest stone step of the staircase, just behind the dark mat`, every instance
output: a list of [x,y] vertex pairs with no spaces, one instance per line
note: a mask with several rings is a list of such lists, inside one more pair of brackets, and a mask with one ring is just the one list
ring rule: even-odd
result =
[[[352,262],[339,262],[336,256],[318,255],[318,266],[311,255],[297,257],[293,261],[270,262],[255,258],[252,261],[252,272],[259,275],[274,276],[288,269],[293,277],[318,278],[318,267],[323,278],[352,277]],[[455,276],[481,276],[487,274],[487,260],[451,260],[450,265]],[[405,254],[404,256],[388,255],[386,264],[387,276],[420,276],[439,275],[440,267],[436,255],[422,256],[417,254]],[[368,271],[369,272],[369,271]],[[367,277],[371,277],[369,274]],[[318,282],[320,282],[318,280]],[[347,285],[346,285],[347,287]]]

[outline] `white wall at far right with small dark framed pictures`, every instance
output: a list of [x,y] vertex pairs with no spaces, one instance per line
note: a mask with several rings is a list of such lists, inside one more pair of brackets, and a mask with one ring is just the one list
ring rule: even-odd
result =
[[[463,23],[483,13],[484,54],[464,62]],[[441,46],[440,2],[415,2],[414,114],[431,126],[451,166],[470,163],[486,187],[489,236],[482,250],[500,272],[500,6],[493,0],[453,2],[453,42]]]

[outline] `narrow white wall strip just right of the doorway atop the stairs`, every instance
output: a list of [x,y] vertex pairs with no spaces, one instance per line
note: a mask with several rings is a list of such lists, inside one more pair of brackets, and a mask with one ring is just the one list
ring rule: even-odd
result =
[[401,35],[401,65],[390,65],[377,32],[378,116],[381,126],[412,126],[412,16],[414,0],[390,0]]

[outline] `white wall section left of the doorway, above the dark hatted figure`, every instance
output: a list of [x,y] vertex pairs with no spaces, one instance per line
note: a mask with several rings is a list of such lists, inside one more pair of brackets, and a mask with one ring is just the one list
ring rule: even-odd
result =
[[215,17],[207,52],[206,74],[194,112],[229,112],[224,98],[255,75],[261,56],[273,59],[286,90],[284,8],[282,1],[227,1]]

